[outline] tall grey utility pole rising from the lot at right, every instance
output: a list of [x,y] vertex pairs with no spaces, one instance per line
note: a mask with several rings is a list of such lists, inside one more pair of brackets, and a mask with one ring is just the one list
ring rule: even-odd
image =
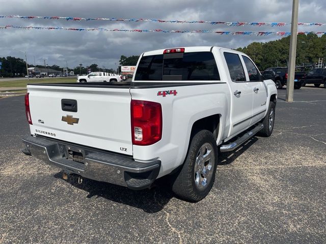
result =
[[289,65],[288,65],[288,71],[287,71],[288,79],[287,79],[287,84],[286,84],[286,99],[285,99],[285,101],[289,102],[289,103],[293,102],[298,10],[299,10],[299,0],[293,0]]

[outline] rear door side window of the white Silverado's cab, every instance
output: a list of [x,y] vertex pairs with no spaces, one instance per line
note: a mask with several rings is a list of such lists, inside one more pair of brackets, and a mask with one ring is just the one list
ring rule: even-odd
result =
[[236,53],[225,52],[224,57],[228,65],[231,80],[235,82],[246,81],[246,75],[244,75],[239,55]]

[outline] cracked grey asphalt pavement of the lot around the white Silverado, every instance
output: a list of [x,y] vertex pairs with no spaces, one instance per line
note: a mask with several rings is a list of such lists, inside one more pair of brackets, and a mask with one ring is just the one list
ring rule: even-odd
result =
[[220,155],[198,203],[62,179],[23,155],[23,96],[0,99],[0,243],[325,243],[326,89],[279,90],[274,133]]

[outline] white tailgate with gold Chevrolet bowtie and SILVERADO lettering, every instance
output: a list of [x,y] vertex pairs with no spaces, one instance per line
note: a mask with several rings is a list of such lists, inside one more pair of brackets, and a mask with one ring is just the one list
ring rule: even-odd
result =
[[[129,88],[28,85],[28,92],[33,135],[132,155]],[[73,100],[77,111],[69,111]]]

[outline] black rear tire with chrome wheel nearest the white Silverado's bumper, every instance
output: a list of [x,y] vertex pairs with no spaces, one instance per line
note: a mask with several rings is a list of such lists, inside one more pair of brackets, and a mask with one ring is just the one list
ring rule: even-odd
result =
[[[210,154],[208,155],[210,155],[211,158],[205,162],[204,155],[207,154],[207,151],[209,150],[208,148],[210,149]],[[207,196],[214,184],[217,164],[218,147],[213,134],[207,130],[199,131],[191,140],[184,164],[174,175],[172,181],[172,191],[180,198],[191,202],[198,202],[202,200]],[[209,167],[210,170],[207,171]],[[195,172],[195,168],[197,168],[198,171]],[[200,171],[199,168],[203,168],[203,171],[204,168],[206,168],[205,171],[207,173],[203,173],[203,171]],[[207,181],[205,181],[204,177],[206,174]],[[196,179],[198,179],[200,182],[198,183]],[[203,185],[203,182],[205,185]]]

